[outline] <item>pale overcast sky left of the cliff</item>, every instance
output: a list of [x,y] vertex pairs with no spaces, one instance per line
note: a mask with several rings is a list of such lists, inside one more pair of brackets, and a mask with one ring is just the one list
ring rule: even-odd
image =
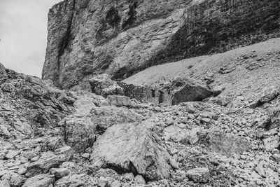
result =
[[38,76],[45,59],[48,10],[62,0],[0,0],[0,62]]

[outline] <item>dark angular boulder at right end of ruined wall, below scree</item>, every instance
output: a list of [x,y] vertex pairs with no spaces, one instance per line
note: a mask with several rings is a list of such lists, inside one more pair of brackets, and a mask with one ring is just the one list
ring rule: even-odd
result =
[[186,83],[186,85],[182,88],[174,91],[174,95],[172,96],[172,105],[179,104],[181,102],[202,101],[207,97],[211,97],[211,95],[213,95],[213,92],[202,85]]

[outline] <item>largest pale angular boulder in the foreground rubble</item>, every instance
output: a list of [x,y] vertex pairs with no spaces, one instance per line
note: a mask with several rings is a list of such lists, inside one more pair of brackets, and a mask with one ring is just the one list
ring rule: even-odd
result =
[[169,153],[144,123],[113,125],[97,139],[93,150],[94,167],[113,168],[120,173],[133,172],[149,180],[169,177]]

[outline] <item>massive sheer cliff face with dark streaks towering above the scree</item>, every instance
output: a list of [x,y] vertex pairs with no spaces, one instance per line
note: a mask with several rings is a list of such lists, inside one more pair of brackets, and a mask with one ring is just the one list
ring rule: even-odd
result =
[[155,64],[280,36],[278,0],[65,0],[50,9],[43,79],[88,89]]

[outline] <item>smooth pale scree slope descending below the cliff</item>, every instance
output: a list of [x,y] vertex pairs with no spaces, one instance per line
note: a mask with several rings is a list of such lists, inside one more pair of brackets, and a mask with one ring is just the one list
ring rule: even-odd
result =
[[123,80],[134,85],[165,85],[178,77],[207,83],[221,95],[253,100],[269,85],[279,85],[280,38],[226,53],[201,56],[148,68]]

